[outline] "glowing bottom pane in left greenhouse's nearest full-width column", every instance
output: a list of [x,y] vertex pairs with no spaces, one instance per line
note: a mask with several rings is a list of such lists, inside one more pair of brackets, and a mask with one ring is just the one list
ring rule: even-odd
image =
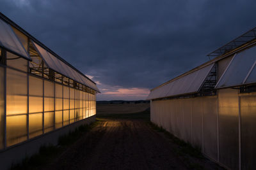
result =
[[28,139],[27,115],[6,117],[6,143],[12,146]]

